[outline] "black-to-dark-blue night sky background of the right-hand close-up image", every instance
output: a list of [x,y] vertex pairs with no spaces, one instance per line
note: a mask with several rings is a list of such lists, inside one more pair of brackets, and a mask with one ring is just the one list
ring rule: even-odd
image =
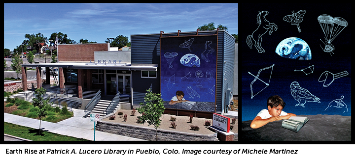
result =
[[[351,116],[351,4],[242,3],[239,13],[242,121],[252,120],[267,108],[272,95],[284,99],[287,113]],[[323,31],[324,25],[332,25],[335,31]],[[251,34],[261,35],[259,42],[265,52],[257,50],[252,38],[249,48]],[[284,48],[277,50],[279,43],[290,37],[299,41],[286,41]],[[313,99],[304,97],[306,92]]]

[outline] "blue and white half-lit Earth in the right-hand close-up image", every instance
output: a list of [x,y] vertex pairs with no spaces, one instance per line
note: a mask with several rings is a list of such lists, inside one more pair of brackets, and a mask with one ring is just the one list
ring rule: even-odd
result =
[[297,37],[286,38],[276,47],[276,53],[284,58],[311,60],[312,53],[308,44]]

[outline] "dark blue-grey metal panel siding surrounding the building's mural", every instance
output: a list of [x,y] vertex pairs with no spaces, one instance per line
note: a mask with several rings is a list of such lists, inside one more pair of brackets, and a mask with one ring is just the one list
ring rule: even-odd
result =
[[[198,35],[216,34],[216,31],[200,31]],[[193,36],[196,32],[180,32],[179,36]],[[178,36],[178,33],[162,33],[163,37]],[[217,73],[216,73],[216,112],[223,111],[224,93],[227,88],[233,88],[234,48],[235,39],[226,31],[218,31],[217,46]],[[226,61],[226,63],[224,63]],[[131,35],[131,62],[132,64],[158,64],[160,65],[160,34]],[[159,66],[158,66],[159,68]],[[226,73],[224,73],[226,71]],[[226,79],[226,80],[224,80]],[[141,72],[132,72],[133,105],[144,101],[145,90],[152,88],[159,93],[160,72],[157,79],[142,79]]]

